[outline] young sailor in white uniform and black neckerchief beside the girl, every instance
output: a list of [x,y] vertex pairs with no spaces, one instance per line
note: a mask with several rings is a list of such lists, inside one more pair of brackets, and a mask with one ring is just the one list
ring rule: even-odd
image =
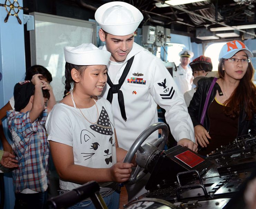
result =
[[[159,104],[166,110],[166,121],[178,145],[197,151],[183,94],[163,62],[134,43],[133,33],[143,20],[142,13],[131,4],[113,1],[96,10],[95,20],[101,27],[99,38],[106,43],[102,50],[111,52],[102,97],[112,103],[119,146],[128,150],[144,129],[158,122]],[[144,143],[157,138],[155,131]],[[138,183],[127,189],[129,200],[138,197]]]

